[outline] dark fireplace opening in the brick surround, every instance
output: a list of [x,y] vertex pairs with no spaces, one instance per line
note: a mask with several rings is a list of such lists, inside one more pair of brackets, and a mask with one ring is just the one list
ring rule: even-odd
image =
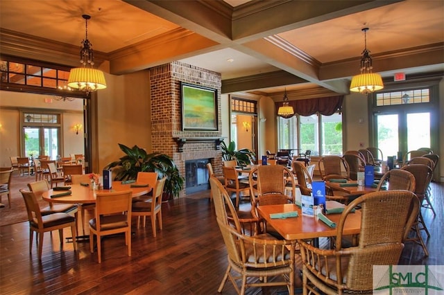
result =
[[185,192],[187,194],[210,189],[207,163],[210,163],[210,159],[185,161]]

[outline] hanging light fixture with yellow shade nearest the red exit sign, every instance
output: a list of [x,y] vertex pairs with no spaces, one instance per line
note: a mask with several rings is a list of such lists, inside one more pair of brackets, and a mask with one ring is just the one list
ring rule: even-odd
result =
[[367,49],[368,28],[363,28],[362,31],[364,32],[364,51],[362,51],[361,57],[361,73],[352,78],[350,91],[368,94],[383,89],[384,84],[382,84],[379,73],[372,73],[372,57],[370,57],[370,51]]

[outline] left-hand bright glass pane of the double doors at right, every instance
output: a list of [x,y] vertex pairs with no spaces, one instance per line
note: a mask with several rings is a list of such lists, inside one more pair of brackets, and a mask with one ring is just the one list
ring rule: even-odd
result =
[[377,115],[377,147],[385,158],[398,154],[398,114]]

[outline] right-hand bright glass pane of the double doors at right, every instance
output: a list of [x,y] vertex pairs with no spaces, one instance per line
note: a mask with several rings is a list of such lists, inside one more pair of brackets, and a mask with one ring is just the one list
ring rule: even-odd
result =
[[430,114],[407,114],[407,152],[430,147]]

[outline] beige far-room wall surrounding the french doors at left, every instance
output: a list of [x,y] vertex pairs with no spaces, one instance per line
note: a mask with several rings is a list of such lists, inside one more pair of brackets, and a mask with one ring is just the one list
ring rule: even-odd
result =
[[21,156],[19,115],[26,109],[42,109],[62,114],[62,157],[84,154],[83,130],[76,134],[74,125],[83,125],[83,100],[73,101],[45,99],[51,96],[0,91],[0,166],[10,166],[10,157]]

